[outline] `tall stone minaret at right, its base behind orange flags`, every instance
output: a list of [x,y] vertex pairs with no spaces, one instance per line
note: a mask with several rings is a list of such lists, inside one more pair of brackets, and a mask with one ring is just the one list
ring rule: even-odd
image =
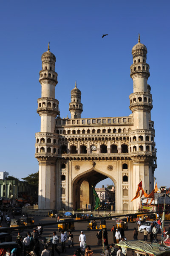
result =
[[[129,133],[129,152],[133,162],[133,195],[142,180],[145,192],[154,188],[154,170],[156,168],[156,149],[154,143],[154,122],[150,111],[153,108],[152,95],[147,79],[150,76],[149,65],[146,63],[147,48],[140,42],[132,48],[133,64],[130,67],[130,77],[133,79],[133,93],[130,94],[130,110],[133,113],[133,130]],[[139,198],[133,201],[138,208]],[[136,206],[135,206],[136,204]]]

